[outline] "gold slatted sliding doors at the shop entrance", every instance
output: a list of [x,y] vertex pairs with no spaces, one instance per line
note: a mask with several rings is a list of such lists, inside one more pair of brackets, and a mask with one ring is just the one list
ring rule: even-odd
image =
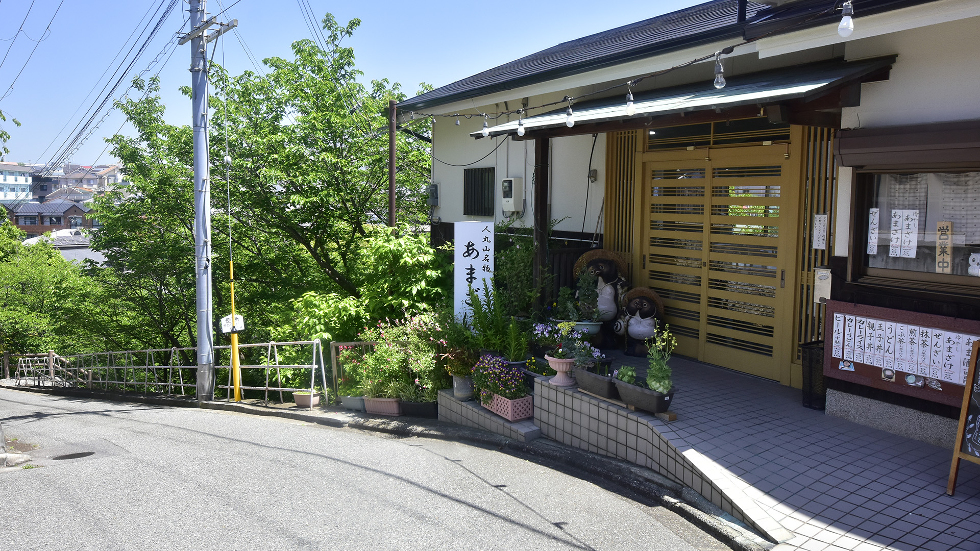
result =
[[[794,136],[797,132],[794,132]],[[789,383],[800,161],[783,144],[641,156],[636,285],[677,353]]]

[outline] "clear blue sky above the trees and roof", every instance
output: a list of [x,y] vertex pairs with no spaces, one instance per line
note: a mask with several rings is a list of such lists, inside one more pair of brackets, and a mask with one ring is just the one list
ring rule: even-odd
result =
[[[364,78],[401,82],[410,95],[419,82],[440,86],[566,40],[701,3],[308,1],[318,25],[327,12],[342,23],[353,18],[362,20],[347,44],[354,47]],[[233,3],[234,0],[208,0],[208,12],[217,14],[227,8],[221,20],[238,20],[241,39],[260,62],[273,56],[289,57],[290,43],[310,37],[298,0],[240,0],[232,6]],[[0,1],[0,60],[6,56],[0,65],[0,111],[8,117],[0,125],[11,134],[7,161],[44,163],[53,158],[73,136],[76,125],[87,119],[82,114],[116,70],[119,62],[113,63],[113,59],[121,48],[128,50],[134,42],[137,48],[142,44],[142,30],[150,19],[155,23],[152,15],[160,4],[161,0]],[[597,6],[609,9],[597,11]],[[186,7],[184,0],[178,2],[143,56],[123,78],[115,98],[123,94],[131,76],[146,69],[183,26]],[[22,23],[23,31],[19,32]],[[49,23],[50,32],[45,34]],[[40,42],[33,41],[42,37]],[[221,41],[216,61],[223,54],[224,65],[233,74],[254,70],[234,33],[226,33]],[[189,44],[178,46],[166,65],[161,60],[152,71],[160,71],[166,119],[174,125],[190,121],[190,103],[178,91],[179,86],[190,82],[189,48]],[[107,69],[109,74],[103,75]],[[23,125],[13,125],[10,118]],[[101,119],[102,115],[95,122]],[[71,162],[113,162],[111,154],[103,152],[103,138],[117,131],[129,133],[131,128],[114,112],[91,131],[71,156]]]

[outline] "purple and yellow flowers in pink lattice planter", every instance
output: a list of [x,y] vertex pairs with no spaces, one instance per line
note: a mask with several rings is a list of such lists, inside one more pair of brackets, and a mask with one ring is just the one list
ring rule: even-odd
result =
[[473,367],[473,384],[480,403],[508,421],[534,417],[534,397],[528,395],[518,366],[499,356],[485,354]]

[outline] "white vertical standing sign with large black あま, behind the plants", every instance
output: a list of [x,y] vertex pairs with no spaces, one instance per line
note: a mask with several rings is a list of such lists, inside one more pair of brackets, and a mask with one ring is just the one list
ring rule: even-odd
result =
[[462,320],[470,313],[469,286],[483,296],[483,280],[493,277],[493,223],[458,222],[454,230],[453,311]]

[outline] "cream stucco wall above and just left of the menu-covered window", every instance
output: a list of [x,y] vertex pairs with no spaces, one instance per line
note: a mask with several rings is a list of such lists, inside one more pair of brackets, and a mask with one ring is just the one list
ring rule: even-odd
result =
[[[857,25],[857,20],[856,20]],[[888,80],[861,85],[860,105],[845,108],[843,128],[980,120],[980,18],[928,25],[847,43],[849,60],[898,54]],[[851,174],[838,187],[834,255],[847,256]]]

